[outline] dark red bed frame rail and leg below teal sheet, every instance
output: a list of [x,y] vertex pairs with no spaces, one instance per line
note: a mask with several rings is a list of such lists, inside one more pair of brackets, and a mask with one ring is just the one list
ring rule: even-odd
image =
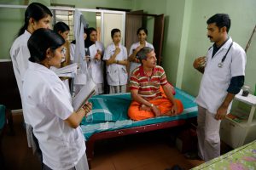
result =
[[90,136],[90,139],[86,141],[86,155],[89,167],[91,168],[91,160],[94,156],[94,144],[97,140],[101,139],[112,139],[119,136],[125,136],[135,133],[146,133],[149,131],[160,130],[170,127],[183,126],[189,124],[190,122],[195,122],[196,117],[191,117],[189,119],[180,119],[170,122],[159,122],[155,124],[144,125],[140,127],[122,128],[113,131],[106,131],[101,133],[95,133]]

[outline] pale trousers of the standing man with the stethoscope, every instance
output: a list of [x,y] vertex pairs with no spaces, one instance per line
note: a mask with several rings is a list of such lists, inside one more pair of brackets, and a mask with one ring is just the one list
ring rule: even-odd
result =
[[198,156],[204,161],[220,156],[220,122],[214,118],[215,114],[198,105],[197,139]]

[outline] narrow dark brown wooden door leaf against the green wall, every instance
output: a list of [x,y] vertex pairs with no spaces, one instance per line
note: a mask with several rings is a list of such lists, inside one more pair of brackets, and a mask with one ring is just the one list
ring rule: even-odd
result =
[[154,16],[154,52],[157,58],[157,65],[161,65],[162,46],[164,40],[164,14]]

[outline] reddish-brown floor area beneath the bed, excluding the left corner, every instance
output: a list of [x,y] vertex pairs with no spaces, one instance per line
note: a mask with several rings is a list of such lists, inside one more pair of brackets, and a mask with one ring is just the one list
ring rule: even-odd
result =
[[131,135],[96,144],[92,169],[164,170],[176,164],[190,169],[203,162],[185,159],[164,133]]

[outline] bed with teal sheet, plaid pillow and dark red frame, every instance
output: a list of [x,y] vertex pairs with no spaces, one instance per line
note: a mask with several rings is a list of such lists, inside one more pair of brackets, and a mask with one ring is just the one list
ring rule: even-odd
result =
[[131,104],[131,94],[93,96],[90,99],[93,110],[80,125],[86,139],[86,154],[89,165],[94,155],[94,144],[97,140],[182,126],[193,119],[195,120],[197,116],[195,98],[178,88],[175,90],[175,98],[180,99],[184,106],[181,115],[160,116],[143,121],[132,121],[127,116]]

